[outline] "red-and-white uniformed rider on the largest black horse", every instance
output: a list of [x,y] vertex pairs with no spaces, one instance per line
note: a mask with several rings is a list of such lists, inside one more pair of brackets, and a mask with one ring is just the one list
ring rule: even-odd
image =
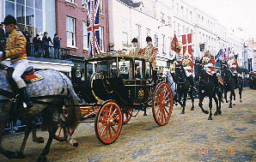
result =
[[207,73],[207,75],[210,75],[213,77],[216,91],[218,93],[221,93],[221,89],[216,76],[216,71],[214,69],[214,64],[215,64],[214,56],[210,55],[210,51],[204,51],[204,56],[201,58],[200,62],[204,65],[204,70]]

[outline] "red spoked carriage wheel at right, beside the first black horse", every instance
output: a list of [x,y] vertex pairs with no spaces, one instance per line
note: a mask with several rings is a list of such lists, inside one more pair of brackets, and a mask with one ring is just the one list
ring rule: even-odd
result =
[[168,123],[173,111],[173,95],[167,83],[162,82],[155,88],[152,112],[155,123],[165,125]]

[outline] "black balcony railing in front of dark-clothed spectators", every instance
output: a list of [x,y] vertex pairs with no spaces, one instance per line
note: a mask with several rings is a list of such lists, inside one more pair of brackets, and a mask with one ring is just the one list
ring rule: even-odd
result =
[[[3,51],[4,47],[5,40],[0,39],[0,51]],[[44,57],[59,60],[68,60],[70,59],[70,49],[55,48],[51,45],[29,43],[27,44],[27,57]]]

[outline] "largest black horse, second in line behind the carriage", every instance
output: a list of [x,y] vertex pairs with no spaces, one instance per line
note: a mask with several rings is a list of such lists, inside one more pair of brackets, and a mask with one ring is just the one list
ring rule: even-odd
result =
[[[210,116],[208,117],[208,120],[212,120],[212,99],[215,100],[216,103],[216,112],[214,115],[221,115],[221,100],[222,100],[222,93],[217,93],[216,87],[215,87],[215,81],[214,76],[207,75],[207,73],[204,71],[203,65],[200,63],[196,63],[195,66],[195,81],[197,82],[198,86],[198,98],[199,98],[199,107],[205,114],[209,114],[209,111],[205,111],[203,108],[203,100],[207,96],[209,97],[209,108],[210,108]],[[216,97],[217,96],[217,97]]]

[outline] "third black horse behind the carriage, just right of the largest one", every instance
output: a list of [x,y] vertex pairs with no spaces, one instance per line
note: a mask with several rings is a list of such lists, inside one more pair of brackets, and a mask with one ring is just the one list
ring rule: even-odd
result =
[[[242,91],[242,82],[240,79],[235,78],[235,76],[232,75],[231,71],[229,70],[229,67],[226,63],[222,63],[222,79],[224,82],[224,98],[226,99],[226,103],[229,103],[229,108],[232,108],[232,97],[234,97],[234,103],[235,105],[235,84],[239,82],[239,93],[240,93],[240,99],[241,99],[241,91]],[[239,81],[238,81],[239,80]],[[229,101],[227,99],[227,93],[230,91]]]

